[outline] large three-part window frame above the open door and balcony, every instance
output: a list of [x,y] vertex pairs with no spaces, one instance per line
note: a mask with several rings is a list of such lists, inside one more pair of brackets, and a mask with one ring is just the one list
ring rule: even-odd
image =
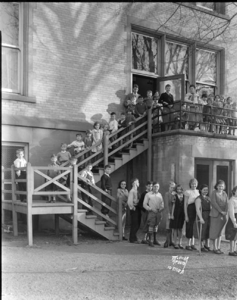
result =
[[[139,25],[137,25],[139,23]],[[188,40],[185,38],[173,36],[170,34],[164,34],[163,32],[159,32],[155,30],[154,23],[149,22],[147,20],[139,20],[136,18],[129,16],[128,24],[127,24],[127,61],[128,61],[128,77],[127,77],[127,92],[131,92],[132,90],[132,76],[133,74],[142,74],[147,77],[164,77],[165,76],[165,42],[174,42],[180,43],[183,45],[187,45],[189,48],[188,55],[188,80],[186,80],[186,92],[189,88],[190,84],[196,84],[196,49],[203,49],[208,51],[213,51],[216,53],[216,85],[215,85],[215,93],[224,94],[224,49],[217,47],[211,44],[204,44],[201,42],[193,42],[192,40]],[[153,28],[152,28],[153,27]],[[159,57],[157,57],[157,70],[160,68],[159,75],[155,73],[139,71],[132,69],[132,47],[131,47],[131,36],[132,32],[137,32],[139,34],[149,35],[153,37],[157,37],[160,40],[160,50]],[[162,92],[162,91],[160,91]]]

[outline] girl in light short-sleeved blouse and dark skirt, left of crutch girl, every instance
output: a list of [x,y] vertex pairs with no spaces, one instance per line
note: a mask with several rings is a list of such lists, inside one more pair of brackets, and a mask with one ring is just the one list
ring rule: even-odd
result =
[[187,238],[187,245],[185,249],[190,251],[197,250],[197,248],[194,245],[194,237],[193,237],[193,223],[196,218],[195,199],[197,196],[199,196],[198,189],[196,189],[197,184],[198,184],[197,179],[192,178],[189,181],[190,189],[187,189],[184,192],[184,213],[185,213],[185,221],[186,221],[185,235]]

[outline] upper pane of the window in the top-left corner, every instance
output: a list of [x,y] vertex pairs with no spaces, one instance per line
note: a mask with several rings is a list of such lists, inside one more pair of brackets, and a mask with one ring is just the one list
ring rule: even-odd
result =
[[19,8],[20,3],[0,2],[0,30],[3,43],[19,45]]

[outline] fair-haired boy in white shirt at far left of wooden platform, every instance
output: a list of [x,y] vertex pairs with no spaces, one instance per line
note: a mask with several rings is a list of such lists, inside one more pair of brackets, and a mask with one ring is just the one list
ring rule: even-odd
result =
[[[27,161],[24,158],[24,150],[22,148],[17,149],[17,159],[14,160],[15,167],[23,167],[27,166]],[[27,178],[27,172],[26,170],[18,170],[16,171],[17,177],[16,179],[26,179]],[[19,190],[26,191],[27,190],[27,182],[18,182]],[[26,202],[26,195],[19,195],[21,202]]]

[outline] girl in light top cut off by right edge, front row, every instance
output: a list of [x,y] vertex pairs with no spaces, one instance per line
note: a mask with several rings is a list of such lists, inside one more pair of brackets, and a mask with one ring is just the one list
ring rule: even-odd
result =
[[232,189],[232,197],[228,201],[229,218],[225,226],[225,239],[229,240],[229,255],[237,256],[237,185]]

